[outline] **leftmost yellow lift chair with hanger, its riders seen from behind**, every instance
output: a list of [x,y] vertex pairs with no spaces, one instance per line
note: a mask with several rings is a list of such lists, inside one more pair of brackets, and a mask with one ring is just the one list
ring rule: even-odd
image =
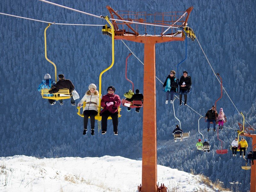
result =
[[[47,61],[49,61],[50,63],[52,63],[52,65],[54,66],[54,70],[55,70],[55,82],[57,82],[57,68],[56,65],[47,58],[47,44],[46,44],[46,30],[50,27],[50,25],[52,25],[51,23],[48,23],[48,26],[44,29],[44,55],[45,55],[45,59]],[[47,95],[49,95],[49,91],[51,89],[42,89],[41,90],[41,95],[42,98],[44,99],[52,99],[52,100],[63,100],[63,99],[70,99],[72,94],[69,92],[68,89],[60,89],[57,93],[52,93],[53,96],[47,97]]]

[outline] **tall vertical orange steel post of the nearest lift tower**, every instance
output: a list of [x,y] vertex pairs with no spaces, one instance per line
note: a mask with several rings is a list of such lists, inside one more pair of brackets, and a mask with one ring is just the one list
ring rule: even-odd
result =
[[144,44],[144,102],[141,192],[157,191],[155,44]]

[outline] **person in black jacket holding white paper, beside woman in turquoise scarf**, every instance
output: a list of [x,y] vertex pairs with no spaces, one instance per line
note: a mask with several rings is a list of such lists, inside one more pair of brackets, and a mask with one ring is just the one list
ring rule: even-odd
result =
[[182,105],[182,94],[184,95],[184,105],[187,104],[187,93],[191,86],[191,77],[188,76],[188,71],[183,71],[183,76],[180,77],[180,105]]

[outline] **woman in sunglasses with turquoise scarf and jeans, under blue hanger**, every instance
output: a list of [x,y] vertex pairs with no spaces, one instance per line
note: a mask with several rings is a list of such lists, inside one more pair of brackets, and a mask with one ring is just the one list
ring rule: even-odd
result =
[[173,93],[178,92],[178,80],[175,77],[175,71],[172,70],[170,75],[166,78],[164,82],[164,92],[166,93],[165,104],[168,104],[169,94],[171,94],[171,103],[173,100]]

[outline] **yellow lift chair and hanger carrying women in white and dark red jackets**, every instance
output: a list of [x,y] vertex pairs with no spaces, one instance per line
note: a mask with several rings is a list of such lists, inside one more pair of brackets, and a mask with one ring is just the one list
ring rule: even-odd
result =
[[[100,109],[102,108],[101,105],[100,105],[100,101],[101,101],[101,77],[102,77],[102,74],[105,73],[106,71],[108,71],[108,69],[112,68],[112,66],[114,65],[114,61],[115,61],[115,50],[114,50],[114,36],[115,36],[115,33],[114,33],[114,30],[113,30],[113,25],[112,23],[109,21],[109,18],[108,16],[104,17],[105,20],[107,20],[107,22],[109,23],[109,25],[111,26],[111,28],[102,28],[102,33],[103,35],[108,35],[109,33],[111,33],[109,36],[111,36],[111,39],[112,39],[112,63],[111,65],[104,69],[101,73],[100,73],[100,77],[99,77],[99,94],[100,94],[100,98],[99,98],[99,106],[98,106],[98,115],[95,116],[95,119],[98,120],[98,121],[101,121],[101,116],[100,116]],[[77,109],[78,109],[78,112],[77,112],[77,115],[81,116],[81,117],[84,117],[84,114],[81,113],[81,108],[84,108],[86,107],[86,101],[83,103],[82,106],[78,106]],[[121,111],[121,108],[118,107],[118,117],[121,117],[120,115],[120,111]],[[90,118],[90,117],[89,117]],[[111,116],[108,117],[108,120],[109,119],[112,119]]]

